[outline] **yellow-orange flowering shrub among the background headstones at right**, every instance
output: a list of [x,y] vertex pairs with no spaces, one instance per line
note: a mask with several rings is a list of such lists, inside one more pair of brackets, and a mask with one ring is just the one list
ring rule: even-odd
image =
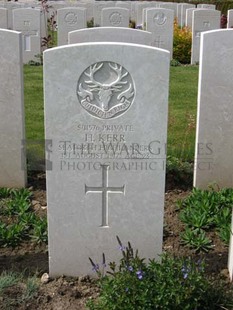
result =
[[180,27],[174,21],[173,58],[182,64],[189,64],[191,60],[192,33],[188,27]]

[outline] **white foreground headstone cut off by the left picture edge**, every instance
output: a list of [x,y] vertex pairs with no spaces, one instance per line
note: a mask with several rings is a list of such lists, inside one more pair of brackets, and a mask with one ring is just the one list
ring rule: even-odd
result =
[[26,185],[21,33],[0,29],[0,187]]

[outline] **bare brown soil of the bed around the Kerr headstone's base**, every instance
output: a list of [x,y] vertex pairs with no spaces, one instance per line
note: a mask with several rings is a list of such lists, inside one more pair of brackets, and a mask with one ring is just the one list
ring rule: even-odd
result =
[[[45,175],[43,173],[33,175],[30,177],[29,182],[33,190],[33,208],[35,212],[46,216]],[[184,247],[180,242],[183,225],[178,218],[176,201],[186,197],[189,193],[190,189],[185,189],[184,186],[182,189],[174,188],[174,184],[172,187],[167,186],[163,249],[176,256],[191,256],[195,257],[195,259],[204,258],[207,263],[208,274],[215,279],[224,279],[228,284],[228,247],[224,246],[216,234],[211,233],[208,235],[214,244],[214,248],[207,254],[197,254]],[[1,248],[0,273],[4,270],[24,271],[28,275],[37,275],[40,278],[44,273],[48,273],[47,246],[45,244],[24,243],[15,249]],[[0,309],[83,310],[89,298],[98,296],[98,287],[95,281],[85,275],[79,278],[60,277],[50,280],[48,283],[41,282],[36,295],[26,302],[17,301],[20,290],[21,287],[15,285],[7,289],[3,295],[0,295]]]

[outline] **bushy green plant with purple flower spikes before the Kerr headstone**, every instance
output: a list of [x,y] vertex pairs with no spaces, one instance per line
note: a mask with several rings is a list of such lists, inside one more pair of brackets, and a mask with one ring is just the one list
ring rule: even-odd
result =
[[122,259],[119,265],[110,263],[109,272],[101,272],[91,260],[101,292],[96,301],[88,302],[89,309],[214,310],[230,304],[231,296],[221,285],[210,284],[203,262],[164,254],[160,262],[153,259],[146,263],[130,243],[125,247],[119,238],[118,242]]

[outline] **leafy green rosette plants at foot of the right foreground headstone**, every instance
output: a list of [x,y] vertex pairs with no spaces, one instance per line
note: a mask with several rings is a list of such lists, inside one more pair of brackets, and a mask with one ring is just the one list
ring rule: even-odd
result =
[[216,230],[227,245],[230,241],[233,189],[219,191],[194,188],[191,195],[178,202],[180,220],[186,225],[183,242],[195,250],[207,252],[210,240],[205,232]]

